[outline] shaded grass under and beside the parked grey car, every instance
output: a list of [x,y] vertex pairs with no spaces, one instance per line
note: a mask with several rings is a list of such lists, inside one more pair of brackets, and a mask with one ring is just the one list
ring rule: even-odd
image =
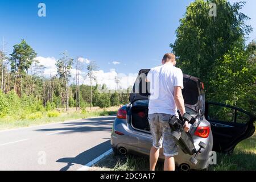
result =
[[[92,167],[92,170],[134,171],[148,170],[147,157],[136,155],[106,156]],[[162,170],[163,163],[159,162],[156,170]],[[256,170],[256,133],[240,142],[234,149],[233,155],[217,154],[217,165],[209,167],[211,171],[255,171]]]

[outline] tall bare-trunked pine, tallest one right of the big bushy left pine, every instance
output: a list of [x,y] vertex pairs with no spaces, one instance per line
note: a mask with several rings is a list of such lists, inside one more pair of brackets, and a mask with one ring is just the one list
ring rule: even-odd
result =
[[60,80],[62,80],[64,83],[65,88],[65,106],[66,111],[68,110],[68,81],[69,77],[71,77],[71,68],[73,59],[69,57],[67,51],[61,53],[61,58],[57,60],[56,67],[57,67],[57,73],[59,75]]

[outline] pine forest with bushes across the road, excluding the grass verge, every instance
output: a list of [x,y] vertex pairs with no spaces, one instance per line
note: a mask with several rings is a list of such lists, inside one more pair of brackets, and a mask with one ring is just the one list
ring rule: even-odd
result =
[[[76,110],[93,106],[106,108],[129,101],[127,90],[117,88],[109,90],[109,93],[98,92],[98,88],[108,88],[105,84],[97,84],[94,71],[98,70],[98,66],[95,61],[80,63],[65,51],[56,62],[57,74],[46,77],[43,75],[45,67],[35,59],[36,56],[36,51],[24,39],[13,46],[13,52],[9,55],[4,49],[0,52],[0,118],[10,116],[23,119],[36,112],[60,108],[68,111],[70,107],[76,107]],[[90,80],[90,85],[79,83],[81,67],[86,67],[86,78]],[[72,68],[76,69],[75,81],[71,81]],[[118,77],[115,82],[119,84]]]

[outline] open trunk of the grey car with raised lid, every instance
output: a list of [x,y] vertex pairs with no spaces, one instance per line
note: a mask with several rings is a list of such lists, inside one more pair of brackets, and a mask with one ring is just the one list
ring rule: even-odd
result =
[[[150,126],[148,124],[148,99],[150,96],[150,82],[146,82],[145,78],[150,69],[142,69],[139,71],[139,75],[133,86],[133,90],[130,94],[131,107],[131,125],[136,130],[150,132]],[[183,97],[186,107],[186,111],[192,115],[196,115],[195,107],[204,107],[204,91],[200,89],[199,78],[184,75],[183,84],[184,89]],[[193,109],[193,110],[192,110]]]

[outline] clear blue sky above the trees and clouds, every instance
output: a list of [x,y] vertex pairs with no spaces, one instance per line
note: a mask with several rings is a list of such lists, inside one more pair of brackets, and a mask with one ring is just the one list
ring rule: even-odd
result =
[[[233,0],[232,0],[233,1]],[[38,4],[47,16],[38,16]],[[137,73],[155,67],[170,51],[179,19],[192,0],[0,1],[0,40],[7,51],[26,39],[41,57],[59,53],[94,60],[103,72]],[[243,9],[256,31],[255,0]],[[256,39],[255,31],[250,35]],[[113,64],[113,62],[120,64]]]

